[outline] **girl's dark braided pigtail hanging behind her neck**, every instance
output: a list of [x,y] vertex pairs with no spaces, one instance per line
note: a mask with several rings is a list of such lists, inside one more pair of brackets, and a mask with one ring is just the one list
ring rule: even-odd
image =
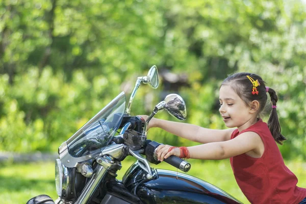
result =
[[272,110],[271,110],[270,118],[268,120],[268,127],[270,129],[270,132],[274,140],[279,144],[283,144],[282,141],[286,140],[287,138],[281,134],[281,125],[279,125],[279,121],[278,121],[278,115],[276,111],[276,102],[278,100],[278,97],[276,96],[275,91],[271,88],[269,88],[268,93],[270,95],[271,102],[272,102]]

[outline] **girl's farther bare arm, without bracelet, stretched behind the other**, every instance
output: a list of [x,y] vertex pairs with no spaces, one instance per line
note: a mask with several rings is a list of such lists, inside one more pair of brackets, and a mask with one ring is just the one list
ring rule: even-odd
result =
[[153,123],[151,127],[159,127],[174,135],[200,143],[230,140],[231,134],[235,130],[234,128],[226,130],[214,130],[202,128],[200,126],[188,123],[172,122],[161,119],[154,119],[152,122]]

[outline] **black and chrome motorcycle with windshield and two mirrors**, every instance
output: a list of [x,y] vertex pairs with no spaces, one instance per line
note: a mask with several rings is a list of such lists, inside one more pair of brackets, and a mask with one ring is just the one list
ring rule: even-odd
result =
[[[216,186],[188,174],[150,167],[149,162],[160,163],[156,155],[160,143],[147,139],[149,121],[162,109],[180,120],[185,120],[187,114],[184,100],[170,94],[155,106],[146,121],[130,115],[142,83],[158,88],[156,66],[151,67],[147,76],[137,78],[126,108],[122,92],[61,144],[55,162],[59,198],[53,201],[47,195],[39,195],[27,204],[241,203]],[[127,156],[137,161],[119,181],[116,172]],[[189,162],[173,155],[164,161],[184,172],[191,168]]]

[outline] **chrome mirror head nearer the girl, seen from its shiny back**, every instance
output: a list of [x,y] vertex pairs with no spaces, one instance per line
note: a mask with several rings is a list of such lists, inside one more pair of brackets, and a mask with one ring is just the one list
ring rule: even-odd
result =
[[164,108],[175,118],[185,120],[187,117],[186,104],[181,96],[169,94],[165,98]]

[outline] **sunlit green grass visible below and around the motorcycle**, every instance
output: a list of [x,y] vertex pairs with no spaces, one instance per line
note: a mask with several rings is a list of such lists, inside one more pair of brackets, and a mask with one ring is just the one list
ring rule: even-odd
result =
[[[118,171],[118,179],[134,161],[123,161],[122,169]],[[190,159],[192,164],[188,174],[205,180],[230,193],[243,203],[249,203],[241,193],[233,176],[228,160],[223,161],[197,161]],[[306,187],[306,164],[302,162],[287,162],[288,167],[299,178],[298,186]],[[154,168],[176,168],[161,163],[152,165]],[[179,170],[180,171],[180,170]],[[54,181],[54,163],[29,163],[29,164],[1,164],[0,167],[0,197],[3,204],[25,204],[30,198],[47,194],[56,199],[57,193]]]

